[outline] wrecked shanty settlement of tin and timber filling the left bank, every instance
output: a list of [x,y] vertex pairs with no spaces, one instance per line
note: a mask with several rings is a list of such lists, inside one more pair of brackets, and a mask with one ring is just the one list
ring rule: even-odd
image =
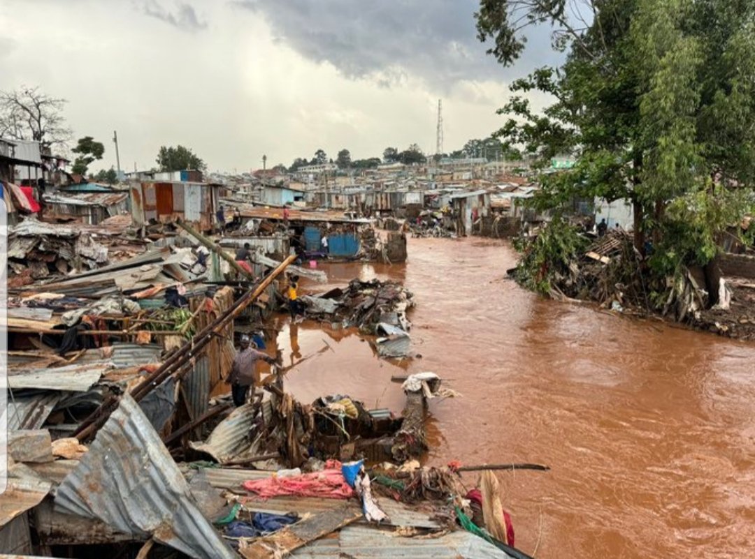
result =
[[[193,170],[100,185],[65,167],[2,142],[3,553],[527,557],[494,470],[547,466],[421,466],[428,406],[457,396],[437,374],[396,379],[402,410],[348,386],[300,402],[285,387],[297,363],[271,350],[283,311],[357,328],[376,359],[412,359],[421,302],[378,280],[318,290],[322,264],[401,263],[406,229],[500,235],[527,187],[424,191],[396,184],[405,170],[378,171],[374,188]],[[475,472],[466,487],[462,472]]]

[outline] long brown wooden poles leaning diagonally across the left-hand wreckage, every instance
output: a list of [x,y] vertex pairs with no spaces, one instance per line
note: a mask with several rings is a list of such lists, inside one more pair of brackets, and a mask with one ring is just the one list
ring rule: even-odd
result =
[[[151,392],[156,386],[162,383],[163,380],[171,376],[171,374],[177,374],[181,376],[186,374],[191,368],[191,359],[199,356],[202,353],[204,347],[209,344],[214,335],[220,333],[220,331],[230,322],[233,322],[242,311],[252,304],[264,291],[273,283],[285,269],[288,264],[291,264],[296,259],[294,255],[286,258],[279,267],[272,270],[265,276],[265,279],[253,290],[246,292],[242,295],[223,315],[219,316],[214,322],[211,322],[202,331],[199,331],[192,340],[183,344],[175,353],[173,353],[168,359],[162,363],[162,365],[156,369],[153,373],[147,375],[147,377],[131,391],[131,396],[136,402],[139,402]],[[75,437],[79,441],[85,441],[94,435],[101,426],[103,426],[110,416],[112,411],[118,407],[119,398],[111,396],[106,399],[105,402],[97,408],[86,420],[82,422],[79,429],[75,432]]]

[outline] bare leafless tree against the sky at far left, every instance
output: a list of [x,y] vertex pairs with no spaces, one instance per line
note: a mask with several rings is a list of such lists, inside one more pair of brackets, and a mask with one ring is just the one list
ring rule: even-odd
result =
[[0,137],[64,148],[72,134],[63,116],[65,105],[66,99],[51,97],[39,87],[0,91]]

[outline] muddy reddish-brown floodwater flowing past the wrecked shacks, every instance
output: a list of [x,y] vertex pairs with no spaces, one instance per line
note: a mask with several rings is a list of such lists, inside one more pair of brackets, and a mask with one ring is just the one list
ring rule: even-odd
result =
[[551,466],[498,472],[538,558],[755,557],[755,346],[541,300],[506,279],[515,261],[495,240],[410,239],[405,265],[325,264],[333,285],[405,283],[423,358],[281,318],[285,362],[314,354],[287,388],[400,411],[391,375],[438,373],[463,396],[430,405],[428,463]]

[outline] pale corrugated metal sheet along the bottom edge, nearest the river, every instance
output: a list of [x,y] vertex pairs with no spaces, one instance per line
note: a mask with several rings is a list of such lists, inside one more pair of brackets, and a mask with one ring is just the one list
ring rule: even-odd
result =
[[451,532],[438,538],[402,538],[392,530],[347,526],[337,538],[322,538],[300,548],[291,557],[350,557],[351,559],[511,559],[492,543],[469,532]]

